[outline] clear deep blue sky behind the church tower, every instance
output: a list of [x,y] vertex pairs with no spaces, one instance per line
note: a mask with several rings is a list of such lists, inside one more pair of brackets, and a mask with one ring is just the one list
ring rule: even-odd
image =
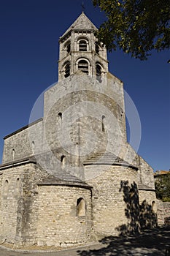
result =
[[[3,138],[28,124],[31,109],[58,80],[58,38],[82,12],[81,0],[7,0],[0,8],[0,162]],[[104,13],[85,0],[85,14],[99,26]],[[117,50],[109,71],[123,80],[142,124],[138,153],[154,170],[170,169],[170,53],[147,61]]]

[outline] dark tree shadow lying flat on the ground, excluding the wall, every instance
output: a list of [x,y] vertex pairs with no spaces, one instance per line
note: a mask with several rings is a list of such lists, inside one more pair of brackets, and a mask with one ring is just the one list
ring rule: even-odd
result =
[[[80,256],[165,256],[170,246],[170,227],[144,230],[138,236],[108,236],[101,241],[100,249],[79,250]],[[169,254],[167,254],[169,256]]]

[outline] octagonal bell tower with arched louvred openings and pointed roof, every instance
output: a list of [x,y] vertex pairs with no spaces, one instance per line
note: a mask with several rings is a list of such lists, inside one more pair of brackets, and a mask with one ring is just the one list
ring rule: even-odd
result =
[[96,26],[84,12],[60,37],[58,80],[82,72],[100,81],[108,72],[107,50],[98,44]]

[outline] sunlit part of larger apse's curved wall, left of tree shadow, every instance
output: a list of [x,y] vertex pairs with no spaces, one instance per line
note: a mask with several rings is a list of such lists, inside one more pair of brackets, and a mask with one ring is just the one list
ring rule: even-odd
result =
[[96,173],[96,177],[87,181],[93,186],[93,230],[107,236],[116,235],[117,229],[128,223],[121,182],[128,181],[131,187],[137,182],[137,172],[123,166],[87,165],[85,173],[90,173],[90,169],[94,176]]

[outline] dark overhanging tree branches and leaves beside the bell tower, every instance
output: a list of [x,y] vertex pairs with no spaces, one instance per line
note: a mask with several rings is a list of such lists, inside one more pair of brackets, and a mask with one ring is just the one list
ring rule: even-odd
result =
[[170,48],[170,0],[93,0],[107,20],[98,39],[109,51],[117,47],[144,60],[150,51]]

